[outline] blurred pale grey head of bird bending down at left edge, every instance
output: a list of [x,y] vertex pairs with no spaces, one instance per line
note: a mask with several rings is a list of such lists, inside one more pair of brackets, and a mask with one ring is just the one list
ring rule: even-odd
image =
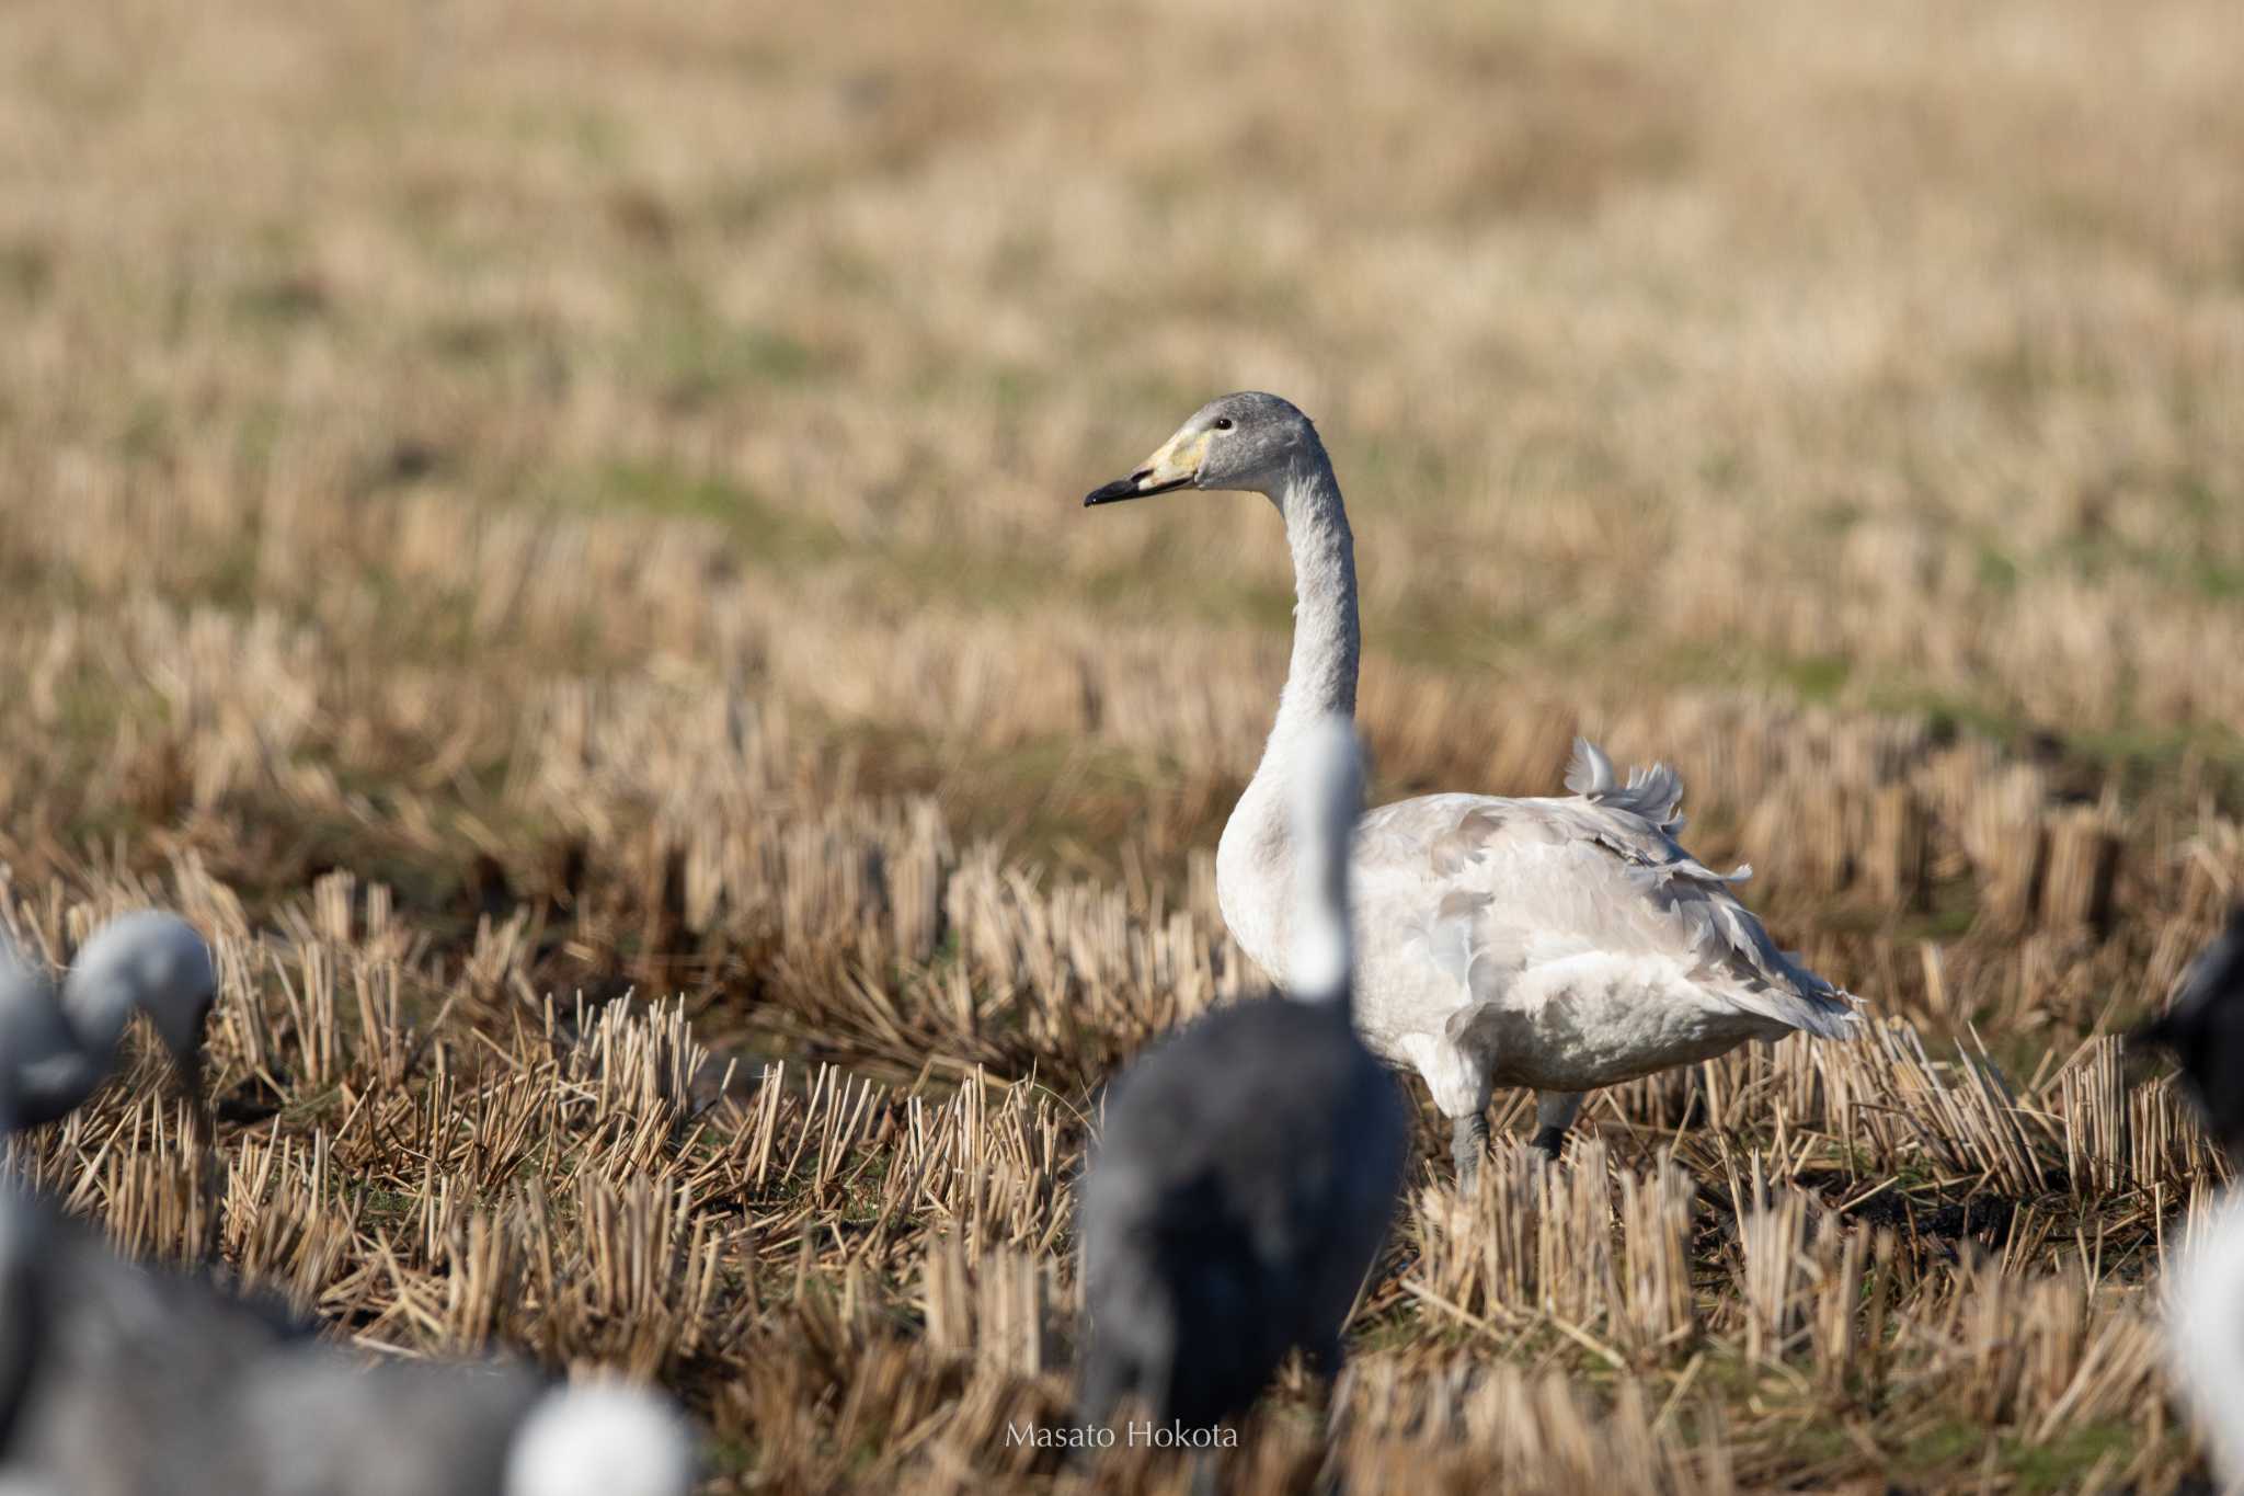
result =
[[94,931],[63,980],[63,1007],[72,1023],[112,1045],[135,1009],[148,1014],[197,1106],[202,1029],[215,1000],[211,946],[193,924],[155,908],[119,915]]

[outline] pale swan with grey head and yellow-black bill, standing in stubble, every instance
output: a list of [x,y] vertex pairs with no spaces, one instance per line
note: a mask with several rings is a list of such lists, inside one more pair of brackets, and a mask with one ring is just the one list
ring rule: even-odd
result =
[[[1315,426],[1277,395],[1225,395],[1084,505],[1230,489],[1277,505],[1293,550],[1293,662],[1254,778],[1216,846],[1232,938],[1290,985],[1299,850],[1286,783],[1326,713],[1355,715],[1362,639],[1355,543]],[[1683,781],[1613,774],[1575,740],[1571,796],[1429,794],[1355,830],[1355,1023],[1414,1068],[1452,1124],[1459,1180],[1488,1139],[1495,1086],[1537,1092],[1535,1146],[1555,1157],[1582,1095],[1788,1032],[1849,1038],[1854,998],[1777,949],[1732,884],[1676,837]]]

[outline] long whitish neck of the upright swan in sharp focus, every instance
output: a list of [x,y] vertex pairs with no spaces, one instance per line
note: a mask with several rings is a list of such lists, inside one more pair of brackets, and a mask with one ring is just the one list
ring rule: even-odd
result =
[[1286,787],[1310,731],[1333,713],[1355,718],[1362,628],[1355,617],[1355,536],[1322,446],[1302,453],[1270,502],[1286,518],[1286,543],[1293,547],[1293,664],[1261,767],[1216,846],[1216,902],[1232,938],[1284,987],[1297,866]]

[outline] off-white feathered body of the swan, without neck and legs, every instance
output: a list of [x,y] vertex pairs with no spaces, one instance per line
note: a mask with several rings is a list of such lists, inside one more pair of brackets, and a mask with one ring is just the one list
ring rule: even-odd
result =
[[1443,1112],[1488,1106],[1492,1086],[1582,1092],[1748,1038],[1849,1032],[1845,1000],[1730,893],[1748,870],[1676,846],[1674,774],[1607,787],[1604,756],[1578,742],[1569,778],[1589,794],[1434,794],[1358,830],[1360,1027]]

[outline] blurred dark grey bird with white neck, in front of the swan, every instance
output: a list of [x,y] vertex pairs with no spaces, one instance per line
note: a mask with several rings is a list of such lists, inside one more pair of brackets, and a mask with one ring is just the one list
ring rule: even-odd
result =
[[1212,1433],[1293,1348],[1337,1375],[1349,1310],[1387,1240],[1407,1117],[1349,1023],[1362,765],[1344,718],[1304,733],[1293,789],[1288,991],[1203,1016],[1106,1101],[1077,1220],[1086,1426],[1111,1426],[1135,1400],[1156,1424]]

